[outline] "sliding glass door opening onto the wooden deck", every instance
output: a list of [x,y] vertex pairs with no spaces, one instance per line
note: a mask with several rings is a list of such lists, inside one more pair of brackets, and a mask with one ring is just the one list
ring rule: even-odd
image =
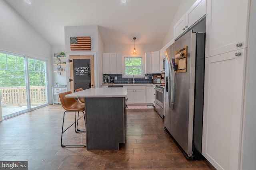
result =
[[2,118],[47,104],[46,61],[0,51]]

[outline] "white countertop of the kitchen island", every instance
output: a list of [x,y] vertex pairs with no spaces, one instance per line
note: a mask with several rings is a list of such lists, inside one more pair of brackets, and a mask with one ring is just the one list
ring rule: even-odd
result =
[[116,98],[126,97],[127,88],[88,88],[66,95],[67,98]]

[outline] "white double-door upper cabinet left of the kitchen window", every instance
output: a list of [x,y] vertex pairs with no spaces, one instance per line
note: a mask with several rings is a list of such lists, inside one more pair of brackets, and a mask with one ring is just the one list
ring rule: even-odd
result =
[[103,53],[103,74],[117,74],[116,53]]

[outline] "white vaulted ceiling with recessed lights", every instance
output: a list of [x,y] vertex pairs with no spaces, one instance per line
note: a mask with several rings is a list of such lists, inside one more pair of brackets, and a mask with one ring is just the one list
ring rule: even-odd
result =
[[162,43],[181,0],[5,0],[51,45],[64,26],[98,25],[104,44]]

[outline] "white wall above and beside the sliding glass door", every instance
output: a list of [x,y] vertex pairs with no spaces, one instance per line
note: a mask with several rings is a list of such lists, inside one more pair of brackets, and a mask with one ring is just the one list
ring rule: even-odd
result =
[[[52,84],[50,44],[4,0],[0,0],[0,16],[0,50],[47,61],[50,87]],[[48,97],[50,99],[50,96]]]

